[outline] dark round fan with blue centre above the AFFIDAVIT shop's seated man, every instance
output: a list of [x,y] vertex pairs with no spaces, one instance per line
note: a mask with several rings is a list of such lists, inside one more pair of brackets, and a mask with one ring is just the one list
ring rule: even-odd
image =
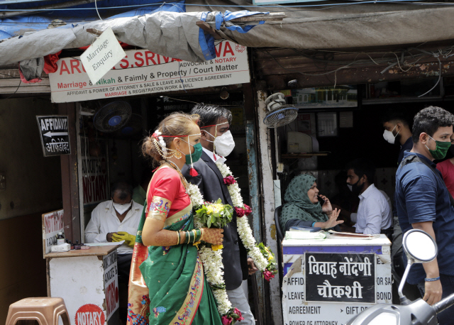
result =
[[113,101],[102,106],[93,116],[94,127],[101,132],[111,133],[126,126],[133,109],[127,101]]

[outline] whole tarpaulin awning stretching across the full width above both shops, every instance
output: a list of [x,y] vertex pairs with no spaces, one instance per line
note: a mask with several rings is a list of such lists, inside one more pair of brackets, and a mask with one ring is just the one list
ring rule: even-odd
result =
[[[218,35],[248,47],[297,49],[380,48],[454,38],[454,6],[441,4],[349,4],[323,2],[322,7],[253,7],[244,0],[185,1],[187,12],[159,11],[143,16],[119,17],[104,21],[38,31],[0,43],[0,65],[57,53],[65,48],[90,45],[93,35],[87,28],[104,31],[110,26],[118,40],[154,53],[182,60],[211,60],[213,39],[196,26],[206,21]],[[91,4],[93,5],[93,4]],[[268,21],[252,30],[233,27],[228,17],[255,12],[242,9],[284,11],[283,21]],[[221,11],[233,11],[225,15]],[[0,9],[1,11],[1,9]],[[265,11],[265,10],[262,10]],[[1,22],[0,22],[1,26]],[[248,27],[248,26],[246,26]]]

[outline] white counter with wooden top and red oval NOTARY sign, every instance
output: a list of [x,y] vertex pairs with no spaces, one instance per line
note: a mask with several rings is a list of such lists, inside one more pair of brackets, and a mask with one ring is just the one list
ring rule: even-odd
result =
[[119,324],[116,248],[45,253],[48,296],[65,299],[72,325]]

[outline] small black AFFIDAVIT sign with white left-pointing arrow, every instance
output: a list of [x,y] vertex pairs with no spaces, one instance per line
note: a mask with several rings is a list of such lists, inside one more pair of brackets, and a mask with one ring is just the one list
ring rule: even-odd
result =
[[36,116],[40,130],[41,145],[44,157],[52,155],[70,155],[70,136],[68,133],[68,116]]

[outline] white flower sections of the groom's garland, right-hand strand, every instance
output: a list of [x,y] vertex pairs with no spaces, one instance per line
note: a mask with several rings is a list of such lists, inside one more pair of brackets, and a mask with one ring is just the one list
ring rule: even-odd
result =
[[[216,162],[219,171],[221,172],[222,177],[227,177],[229,175],[233,176],[230,168],[222,163],[221,161]],[[228,193],[232,199],[233,206],[244,208],[243,197],[240,194],[240,187],[238,183],[227,185]],[[260,272],[265,272],[268,261],[260,252],[260,249],[255,245],[255,238],[253,236],[253,231],[249,226],[249,221],[246,216],[236,219],[236,224],[238,227],[238,235],[240,235],[241,241],[243,242],[244,247],[248,250],[250,258],[254,260],[255,266],[260,270]]]

